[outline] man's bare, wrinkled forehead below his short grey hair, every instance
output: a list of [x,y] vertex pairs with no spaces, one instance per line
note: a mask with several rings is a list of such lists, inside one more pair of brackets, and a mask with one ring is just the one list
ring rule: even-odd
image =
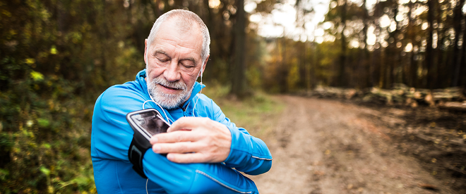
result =
[[189,54],[200,57],[202,35],[197,24],[186,25],[174,19],[168,19],[155,34],[151,49],[162,50],[169,54]]

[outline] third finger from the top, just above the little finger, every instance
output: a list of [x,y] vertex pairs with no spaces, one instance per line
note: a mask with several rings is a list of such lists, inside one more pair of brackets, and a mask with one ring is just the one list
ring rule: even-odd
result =
[[189,153],[199,151],[197,143],[192,142],[178,142],[178,143],[159,143],[152,145],[152,150],[155,153]]

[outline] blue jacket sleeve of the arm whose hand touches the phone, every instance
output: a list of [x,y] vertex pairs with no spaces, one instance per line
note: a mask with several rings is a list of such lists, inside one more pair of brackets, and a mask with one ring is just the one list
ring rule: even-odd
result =
[[230,154],[224,163],[248,175],[260,175],[269,171],[272,167],[272,154],[264,141],[251,136],[246,129],[236,127],[214,101],[212,107],[213,119],[226,125],[232,133]]

